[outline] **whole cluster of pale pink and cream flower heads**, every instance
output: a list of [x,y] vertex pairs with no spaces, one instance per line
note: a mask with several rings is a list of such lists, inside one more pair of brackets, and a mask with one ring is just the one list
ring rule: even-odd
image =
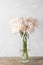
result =
[[25,32],[33,32],[36,27],[38,27],[38,21],[32,17],[26,18],[16,18],[10,21],[10,26],[13,33],[17,33],[20,30]]

